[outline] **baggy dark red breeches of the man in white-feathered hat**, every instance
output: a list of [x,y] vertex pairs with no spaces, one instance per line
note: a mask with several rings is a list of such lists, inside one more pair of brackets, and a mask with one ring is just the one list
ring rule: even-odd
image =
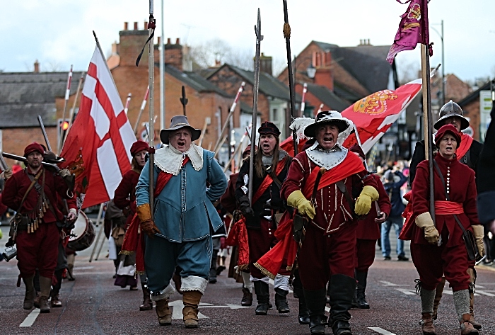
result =
[[306,290],[325,288],[332,275],[354,278],[356,225],[346,223],[331,235],[324,235],[313,224],[306,225],[298,258],[299,276]]

